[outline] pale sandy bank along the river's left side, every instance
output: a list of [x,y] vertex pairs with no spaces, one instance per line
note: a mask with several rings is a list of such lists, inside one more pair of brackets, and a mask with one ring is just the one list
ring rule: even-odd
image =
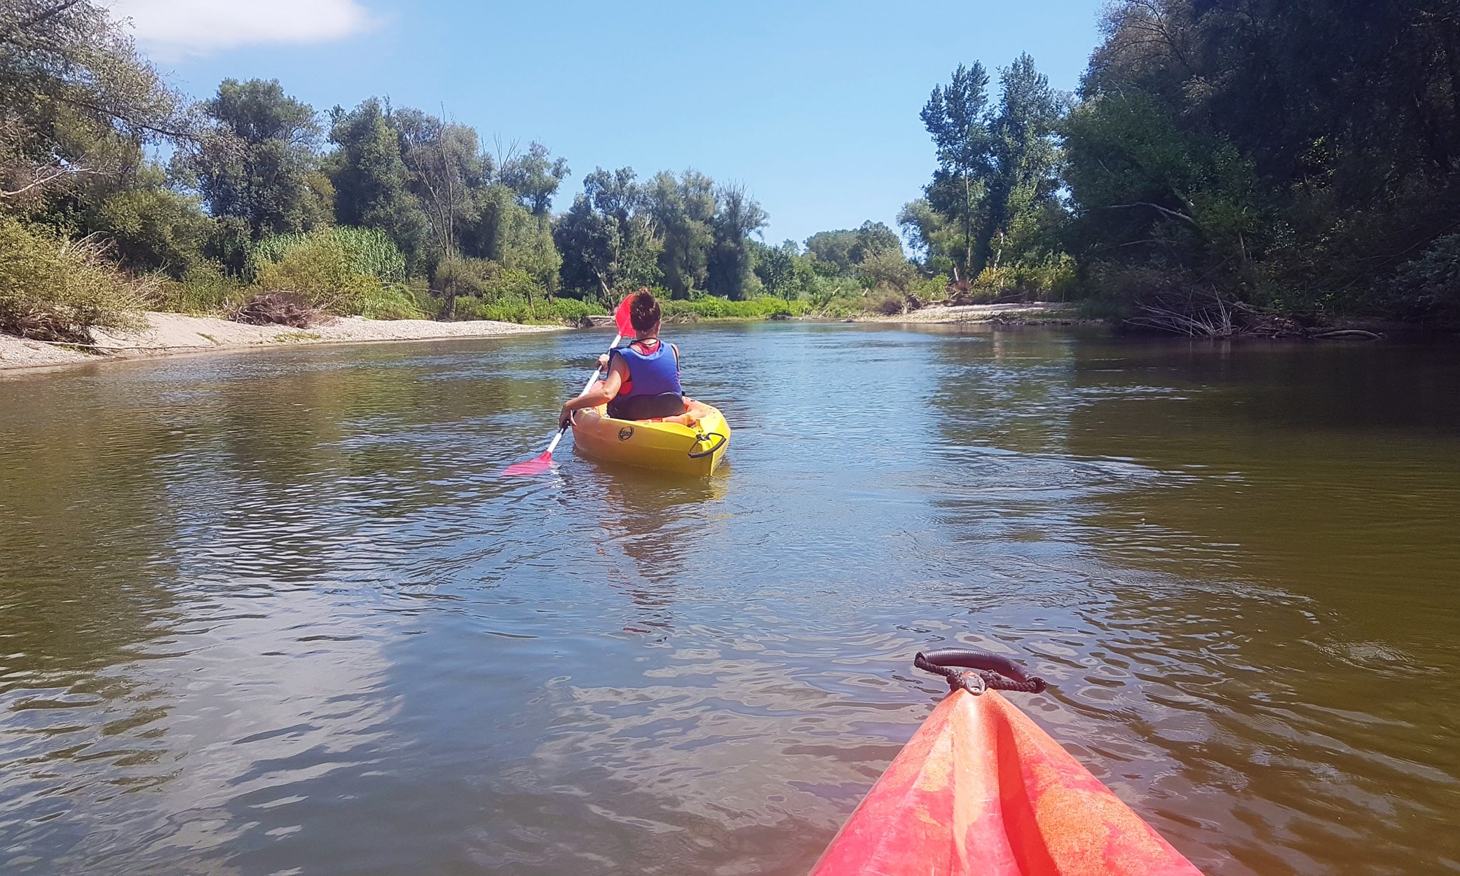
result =
[[0,334],[0,369],[107,362],[209,350],[237,350],[260,346],[362,343],[378,340],[434,340],[444,337],[492,337],[530,331],[558,331],[556,326],[518,326],[474,320],[437,323],[432,320],[365,320],[340,317],[311,326],[245,326],[216,317],[187,317],[182,314],[143,314],[147,326],[136,331],[105,333],[93,330],[95,349],[57,346]]

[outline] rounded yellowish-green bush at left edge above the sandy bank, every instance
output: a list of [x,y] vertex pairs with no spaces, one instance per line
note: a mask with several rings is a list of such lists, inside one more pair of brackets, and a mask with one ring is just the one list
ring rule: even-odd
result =
[[69,241],[0,216],[0,331],[91,343],[91,328],[140,324],[139,288],[101,244]]

